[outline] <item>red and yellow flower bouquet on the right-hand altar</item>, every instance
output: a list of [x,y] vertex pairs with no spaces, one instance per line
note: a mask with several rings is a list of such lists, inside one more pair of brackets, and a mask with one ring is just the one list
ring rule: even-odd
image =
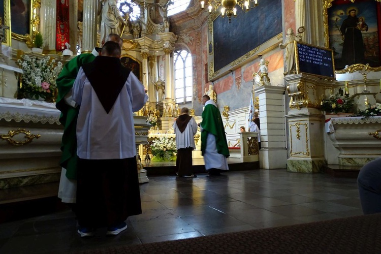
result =
[[331,95],[327,100],[322,100],[320,110],[326,113],[348,113],[353,112],[352,108],[354,100],[348,96],[341,96],[340,94]]

